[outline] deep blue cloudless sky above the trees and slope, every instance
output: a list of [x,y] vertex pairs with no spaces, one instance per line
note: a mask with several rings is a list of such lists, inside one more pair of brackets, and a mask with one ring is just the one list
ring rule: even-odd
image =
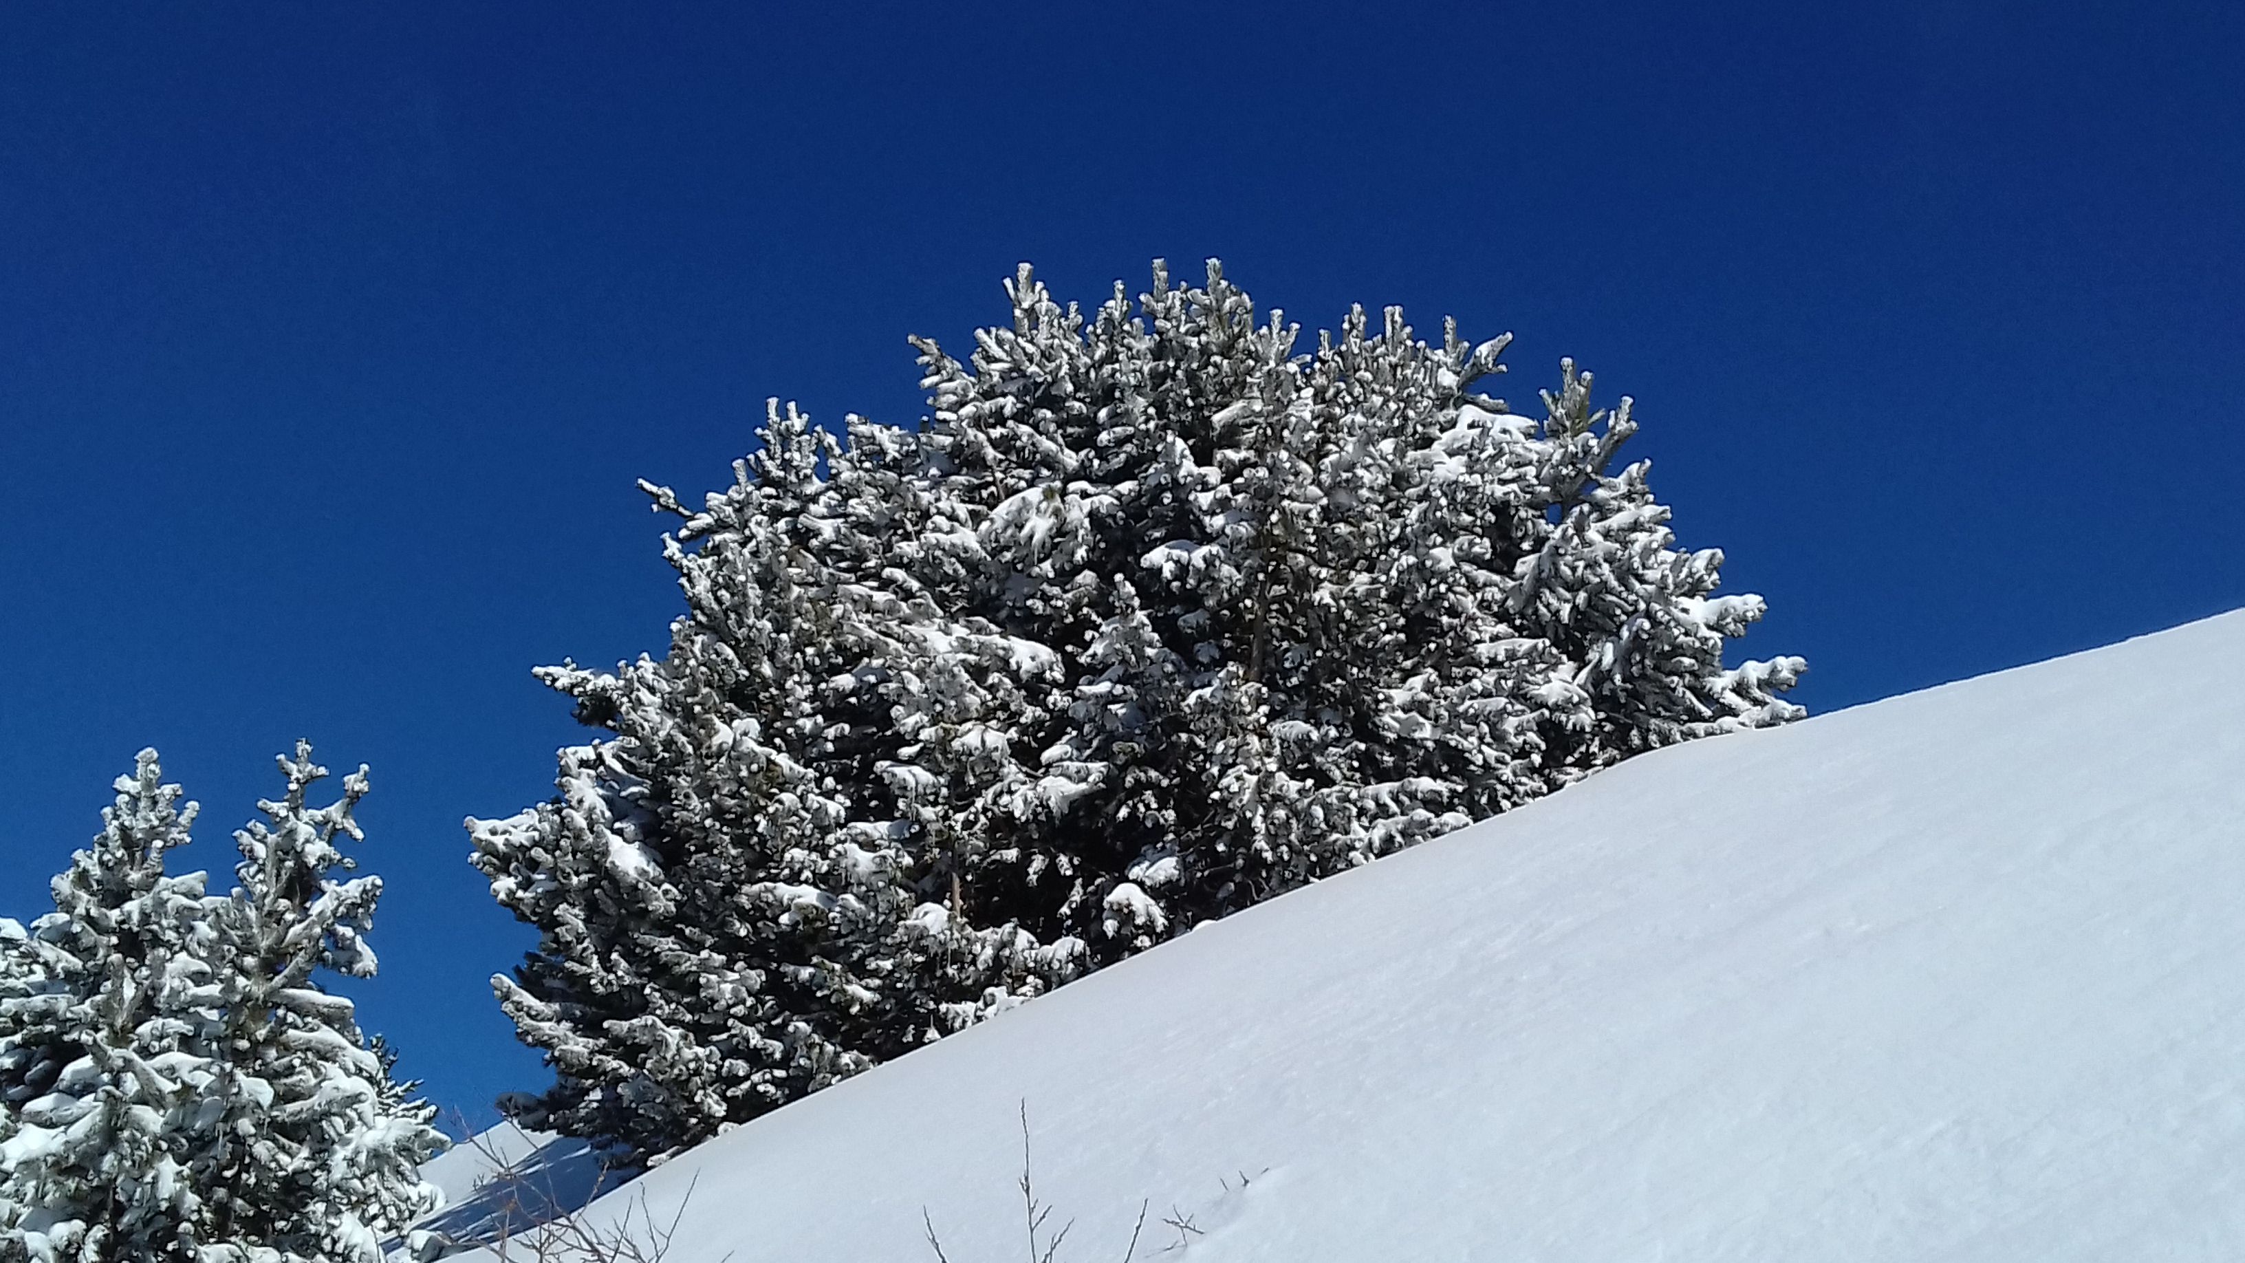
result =
[[537,1085],[460,818],[577,739],[532,665],[660,649],[633,479],[916,420],[1019,258],[1576,355],[1816,710],[2245,602],[2236,4],[622,9],[0,11],[0,912],[135,748],[224,867],[310,735],[368,1025]]

